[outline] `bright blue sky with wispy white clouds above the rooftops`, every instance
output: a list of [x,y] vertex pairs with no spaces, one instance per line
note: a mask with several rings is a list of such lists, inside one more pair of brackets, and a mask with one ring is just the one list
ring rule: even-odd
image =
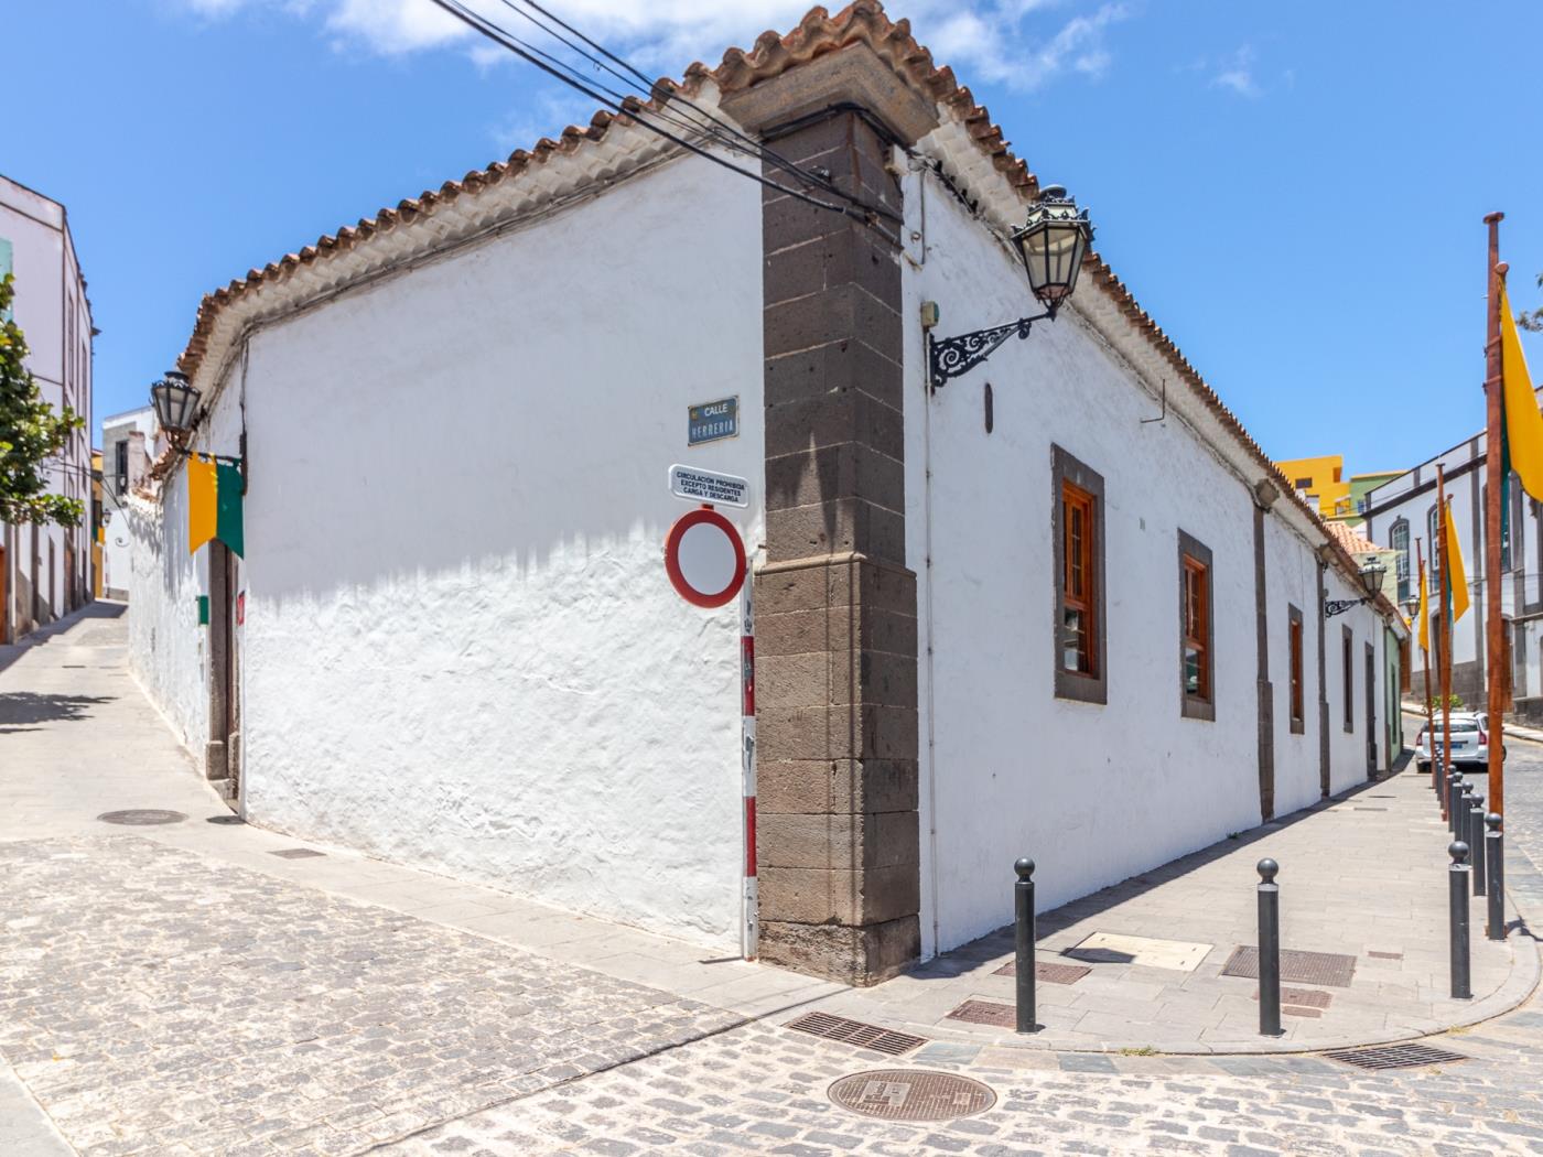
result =
[[[548,6],[670,76],[804,11]],[[1508,213],[1515,304],[1543,304],[1543,5],[1483,11],[889,6],[1091,205],[1100,251],[1265,450],[1352,472],[1481,426],[1486,211]],[[427,0],[11,0],[5,23],[0,171],[69,208],[99,415],[140,404],[205,292],[589,111]]]

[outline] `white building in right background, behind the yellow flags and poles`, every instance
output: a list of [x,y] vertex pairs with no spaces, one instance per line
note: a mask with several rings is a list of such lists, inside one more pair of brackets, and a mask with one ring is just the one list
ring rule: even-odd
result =
[[[1437,648],[1437,571],[1430,545],[1437,534],[1437,467],[1446,475],[1446,492],[1452,506],[1452,523],[1463,546],[1463,569],[1469,588],[1469,612],[1452,628],[1452,691],[1466,707],[1484,710],[1486,662],[1484,617],[1489,614],[1486,595],[1484,557],[1484,433],[1427,458],[1407,474],[1378,486],[1366,497],[1367,538],[1384,545],[1400,555],[1398,589],[1390,592],[1407,599],[1420,592],[1418,554],[1426,558],[1426,578],[1430,591],[1430,688],[1437,693],[1440,657]],[[1500,612],[1504,617],[1503,637],[1511,656],[1511,688],[1517,714],[1524,719],[1543,719],[1543,532],[1538,526],[1538,503],[1532,501],[1512,477],[1509,491],[1511,511],[1508,517],[1509,538],[1500,545]],[[1415,646],[1410,663],[1410,691],[1424,696],[1424,657]]]

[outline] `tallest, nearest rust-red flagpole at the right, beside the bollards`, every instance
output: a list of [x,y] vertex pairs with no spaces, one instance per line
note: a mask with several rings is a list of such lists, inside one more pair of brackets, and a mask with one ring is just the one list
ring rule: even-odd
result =
[[1500,285],[1504,278],[1504,267],[1500,265],[1500,222],[1504,213],[1491,213],[1484,218],[1489,225],[1489,264],[1486,275],[1489,282],[1489,338],[1484,342],[1486,375],[1484,375],[1484,478],[1487,478],[1487,494],[1484,495],[1484,665],[1487,668],[1486,683],[1489,690],[1489,810],[1497,815],[1504,811],[1504,761],[1506,750],[1506,700],[1511,697],[1511,671],[1506,660],[1504,620],[1500,617],[1500,500],[1506,480],[1500,454]]

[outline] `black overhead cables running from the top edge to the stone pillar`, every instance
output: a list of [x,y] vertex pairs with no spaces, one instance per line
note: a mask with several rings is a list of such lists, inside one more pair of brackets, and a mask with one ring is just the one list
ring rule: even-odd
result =
[[[810,182],[810,184],[813,184],[816,187],[821,187],[826,191],[832,191],[832,193],[835,193],[836,196],[841,196],[844,201],[847,201],[850,204],[832,204],[832,202],[822,201],[822,199],[816,197],[816,196],[810,196],[809,193],[804,193],[802,190],[788,188],[787,185],[778,184],[776,180],[770,180],[768,177],[761,176],[759,173],[751,173],[748,170],[744,170],[739,165],[734,165],[730,160],[727,160],[727,159],[724,159],[721,156],[716,156],[710,150],[702,148],[701,145],[693,143],[691,140],[687,140],[684,136],[671,131],[670,128],[663,128],[662,125],[654,123],[654,120],[650,119],[650,117],[657,117],[659,120],[665,120],[667,123],[670,123],[674,128],[684,128],[684,131],[687,131],[687,133],[701,134],[705,139],[716,140],[717,143],[722,143],[722,145],[731,148],[733,151],[750,153],[751,156],[756,156],[758,159],[762,159],[762,160],[770,159],[767,150],[764,150],[758,142],[751,142],[748,147],[728,142],[728,140],[724,139],[724,136],[722,136],[721,131],[714,131],[708,125],[704,125],[701,122],[690,122],[690,120],[688,122],[682,122],[682,116],[684,114],[660,116],[654,110],[645,108],[643,102],[639,97],[636,97],[636,96],[622,94],[622,93],[617,93],[614,89],[606,88],[605,85],[596,85],[596,83],[591,83],[589,80],[580,79],[579,74],[577,74],[577,71],[571,65],[559,60],[551,52],[546,52],[546,51],[540,49],[540,48],[537,48],[535,45],[531,45],[531,43],[522,40],[520,37],[514,35],[512,32],[509,32],[501,25],[498,25],[494,20],[485,17],[483,14],[471,9],[466,3],[463,3],[463,0],[434,0],[434,3],[438,5],[441,9],[444,9],[446,12],[449,12],[451,15],[454,15],[461,23],[464,23],[472,31],[475,31],[480,35],[492,40],[494,43],[497,43],[498,46],[508,49],[509,52],[514,52],[522,60],[525,60],[526,63],[534,65],[535,68],[539,68],[540,71],[543,71],[548,76],[554,77],[555,80],[560,80],[562,83],[568,85],[569,88],[572,88],[572,89],[582,93],[583,96],[589,97],[591,100],[597,102],[599,105],[603,105],[603,106],[606,106],[606,108],[609,108],[609,110],[613,110],[616,113],[620,113],[620,114],[623,114],[626,117],[631,117],[636,123],[639,123],[643,128],[650,130],[651,133],[660,136],[662,139],[665,139],[665,140],[668,140],[668,142],[671,142],[671,143],[674,143],[674,145],[687,150],[688,153],[693,153],[693,154],[701,156],[701,157],[704,157],[707,160],[711,160],[714,165],[721,165],[722,168],[727,168],[730,173],[738,173],[739,176],[748,177],[750,180],[755,180],[756,184],[764,185],[765,188],[770,188],[770,190],[775,190],[778,193],[787,194],[787,196],[793,197],[796,201],[801,201],[804,204],[813,205],[816,208],[822,208],[822,210],[827,210],[830,213],[839,213],[839,214],[842,214],[846,218],[852,218],[853,221],[861,221],[864,224],[873,224],[875,218],[889,218],[890,221],[896,221],[896,222],[900,221],[898,214],[895,214],[892,210],[884,208],[881,205],[864,204],[859,199],[852,197],[850,194],[842,193],[841,190],[835,190],[833,187],[824,185],[819,177],[816,177],[815,174],[804,173],[802,170],[798,170],[796,165],[792,165],[792,162],[787,162],[785,159],[782,159],[782,164],[788,165],[792,168],[792,171],[793,171],[795,176],[798,176],[799,179],[807,180],[807,182]],[[509,8],[512,8],[512,5],[509,5],[509,0],[501,0],[501,3],[505,3]],[[518,9],[514,9],[514,11],[518,11]],[[522,14],[522,15],[525,15],[525,14]],[[528,19],[534,20],[534,17],[528,17]],[[540,22],[535,22],[535,23],[537,23],[537,26],[542,26]],[[571,42],[565,40],[563,37],[557,35],[555,32],[551,32],[551,29],[546,29],[545,26],[542,26],[542,28],[543,28],[543,31],[548,31],[548,34],[554,35],[559,42],[568,45],[569,48],[574,48],[574,51],[579,51],[582,56],[588,57],[588,54],[582,52],[582,49],[577,49],[574,45],[571,45]],[[566,25],[565,25],[565,28],[566,28]],[[589,42],[588,39],[585,39],[585,42],[586,43],[594,43],[594,42]],[[597,49],[597,51],[605,51],[605,49]],[[613,54],[606,52],[606,56],[613,56]],[[593,60],[594,57],[588,57],[588,59]],[[619,57],[614,57],[614,59],[619,59]],[[631,69],[630,65],[626,65],[626,68]],[[613,74],[616,74],[614,69],[608,69],[608,71],[611,71]],[[631,69],[631,71],[636,73],[637,76],[642,76],[640,73],[637,73],[637,69]],[[625,80],[625,77],[622,77],[622,79]],[[650,89],[651,89],[651,94],[653,94],[653,83],[651,82],[650,82]],[[696,105],[691,105],[691,108],[694,111],[701,113],[702,116],[710,116],[705,110],[701,110]],[[738,133],[738,130],[734,130],[734,131]],[[744,134],[739,134],[739,136],[744,136]],[[745,140],[748,140],[748,137],[745,137]]]

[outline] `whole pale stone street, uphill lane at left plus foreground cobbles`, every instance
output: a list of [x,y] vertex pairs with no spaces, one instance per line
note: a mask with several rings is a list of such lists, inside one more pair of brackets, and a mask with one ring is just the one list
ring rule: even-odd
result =
[[[125,677],[120,622],[0,659],[0,733],[5,1157],[1543,1152],[1535,993],[1426,1040],[1457,1060],[1387,1072],[989,1040],[889,1057],[784,1027],[829,997],[807,978],[205,822],[228,816]],[[82,751],[110,770],[60,774]],[[1535,861],[1543,748],[1514,740],[1508,771]],[[187,821],[96,821],[116,807]],[[938,1122],[832,1103],[881,1069],[995,1100]]]

